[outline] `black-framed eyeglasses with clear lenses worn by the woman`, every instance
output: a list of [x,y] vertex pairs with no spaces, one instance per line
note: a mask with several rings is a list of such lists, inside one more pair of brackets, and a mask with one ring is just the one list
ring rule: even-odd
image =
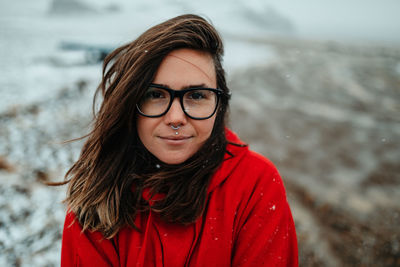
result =
[[136,108],[145,117],[161,117],[171,108],[175,97],[179,97],[186,116],[205,120],[214,115],[223,92],[221,89],[203,87],[177,91],[159,84],[150,84]]

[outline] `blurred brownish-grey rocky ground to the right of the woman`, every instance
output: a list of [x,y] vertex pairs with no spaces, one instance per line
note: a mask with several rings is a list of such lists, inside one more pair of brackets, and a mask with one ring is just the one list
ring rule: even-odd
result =
[[267,40],[231,125],[276,163],[301,266],[400,266],[400,50]]

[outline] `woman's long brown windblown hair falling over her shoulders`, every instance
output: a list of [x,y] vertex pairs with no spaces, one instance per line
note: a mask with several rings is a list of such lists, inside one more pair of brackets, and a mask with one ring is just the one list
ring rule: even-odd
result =
[[[217,86],[225,94],[205,144],[185,162],[167,165],[141,143],[136,103],[164,57],[179,48],[209,53]],[[140,231],[135,216],[149,210],[167,222],[180,224],[190,224],[201,216],[210,179],[223,161],[227,144],[229,89],[222,55],[223,44],[215,28],[204,18],[188,14],[150,28],[105,58],[93,107],[99,94],[103,102],[95,112],[93,129],[85,136],[80,157],[64,182],[68,183],[65,202],[83,231],[100,231],[105,238],[114,237],[127,225]],[[143,198],[143,190],[148,190],[149,198]]]

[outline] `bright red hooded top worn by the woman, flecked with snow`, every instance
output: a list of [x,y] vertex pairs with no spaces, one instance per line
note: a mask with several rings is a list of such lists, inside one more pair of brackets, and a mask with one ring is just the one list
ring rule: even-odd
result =
[[[240,143],[232,132],[229,141]],[[297,240],[285,189],[274,165],[247,147],[228,145],[195,223],[136,217],[112,239],[65,219],[61,266],[298,266]]]

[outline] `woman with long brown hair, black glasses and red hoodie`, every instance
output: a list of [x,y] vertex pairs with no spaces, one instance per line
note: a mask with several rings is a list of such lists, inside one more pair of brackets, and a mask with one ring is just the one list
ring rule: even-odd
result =
[[107,56],[66,174],[62,266],[297,266],[276,168],[225,127],[222,54],[216,30],[183,15]]

